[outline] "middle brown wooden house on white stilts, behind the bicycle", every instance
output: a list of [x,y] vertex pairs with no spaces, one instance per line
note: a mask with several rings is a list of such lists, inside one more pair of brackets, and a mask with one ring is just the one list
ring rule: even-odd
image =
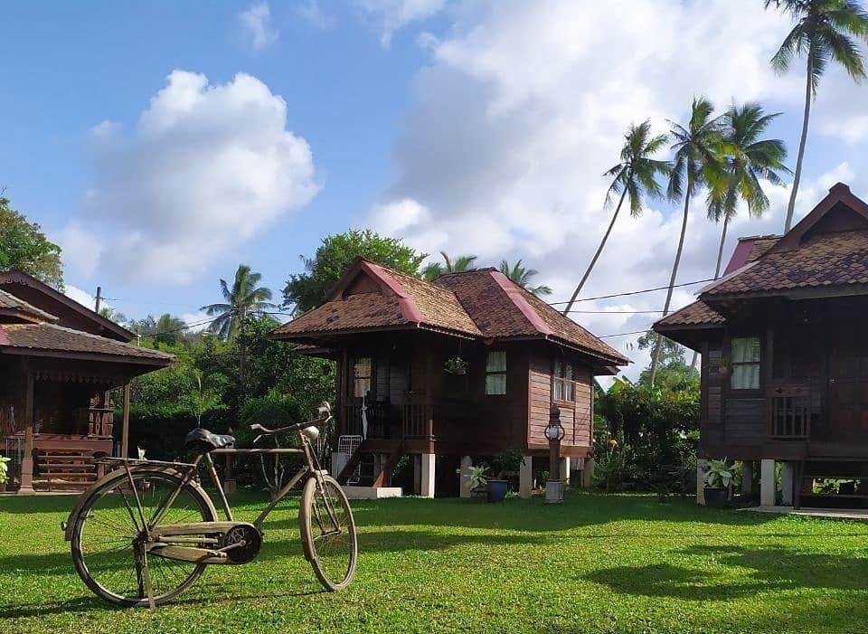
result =
[[361,440],[345,450],[340,477],[373,462],[372,483],[381,487],[410,454],[426,496],[434,494],[435,456],[461,458],[467,469],[470,457],[505,449],[526,457],[528,494],[532,458],[548,450],[552,404],[569,473],[569,459],[591,450],[593,376],[628,363],[494,269],[427,282],[359,260],[324,304],[273,336],[337,361],[338,444]]

